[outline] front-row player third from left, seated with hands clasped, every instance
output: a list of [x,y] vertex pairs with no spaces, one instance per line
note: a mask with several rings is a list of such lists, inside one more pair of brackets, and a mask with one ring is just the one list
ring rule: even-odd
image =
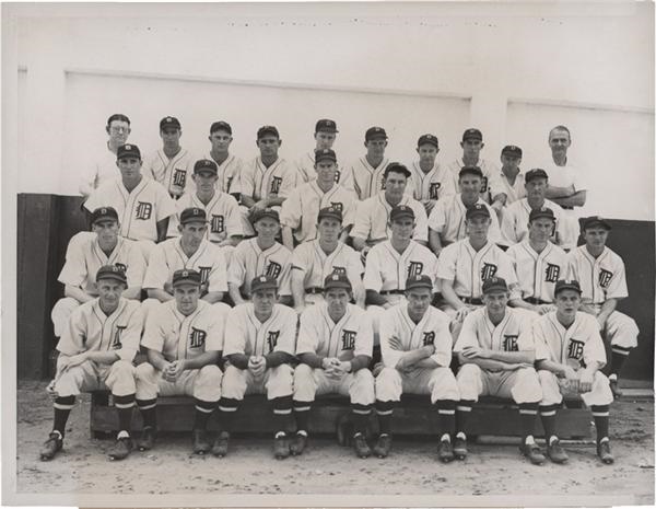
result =
[[221,432],[212,453],[227,454],[232,421],[246,394],[267,394],[273,407],[276,436],[273,455],[290,455],[286,430],[292,421],[293,360],[297,316],[294,310],[277,303],[278,281],[258,276],[250,282],[253,302],[233,308],[226,317],[231,334],[225,335],[223,354],[229,363],[223,377]]

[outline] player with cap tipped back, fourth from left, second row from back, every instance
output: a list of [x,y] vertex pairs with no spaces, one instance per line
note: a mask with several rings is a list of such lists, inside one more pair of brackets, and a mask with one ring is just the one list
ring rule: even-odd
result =
[[360,204],[355,224],[351,230],[353,247],[361,251],[363,257],[372,246],[389,239],[389,213],[398,205],[405,205],[414,211],[417,224],[412,239],[423,245],[427,243],[426,211],[419,201],[406,194],[410,171],[401,163],[389,163],[384,177],[385,189]]

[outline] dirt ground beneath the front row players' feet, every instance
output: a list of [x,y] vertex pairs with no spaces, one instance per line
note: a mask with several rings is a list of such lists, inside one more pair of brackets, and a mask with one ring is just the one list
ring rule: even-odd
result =
[[[387,460],[360,460],[329,438],[311,439],[300,458],[277,461],[270,439],[235,438],[225,459],[194,456],[188,436],[166,436],[148,453],[113,463],[112,440],[90,439],[89,396],[81,396],[67,428],[65,450],[42,462],[51,426],[45,382],[19,384],[16,493],[36,494],[376,494],[449,496],[608,496],[622,505],[654,504],[654,403],[620,401],[611,407],[612,466],[594,444],[567,444],[567,466],[532,466],[514,444],[470,446],[465,462],[436,461],[425,440],[397,439]],[[522,505],[520,501],[517,505]],[[598,504],[595,504],[598,505]]]

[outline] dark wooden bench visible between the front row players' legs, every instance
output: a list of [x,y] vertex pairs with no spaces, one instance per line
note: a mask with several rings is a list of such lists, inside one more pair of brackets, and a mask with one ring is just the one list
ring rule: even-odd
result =
[[[209,429],[218,429],[218,415],[214,412]],[[395,435],[432,436],[435,435],[437,414],[431,408],[429,396],[403,395],[394,412]],[[559,410],[558,429],[561,438],[585,439],[590,437],[590,412],[582,406],[579,400],[566,401]],[[189,431],[194,424],[194,401],[190,397],[161,397],[157,401],[157,427],[160,431]],[[309,431],[313,435],[336,435],[345,444],[350,437],[350,405],[345,396],[327,395],[317,397],[309,417]],[[91,400],[91,433],[103,438],[117,431],[118,418],[110,406],[109,393],[94,392]],[[134,412],[132,430],[142,428],[141,415]],[[372,414],[371,428],[377,431],[375,413]],[[234,419],[234,435],[271,433],[271,406],[263,395],[246,396]],[[509,400],[482,397],[475,405],[468,419],[466,432],[475,438],[480,435],[520,436],[517,405]],[[537,419],[535,435],[543,436],[540,419]]]

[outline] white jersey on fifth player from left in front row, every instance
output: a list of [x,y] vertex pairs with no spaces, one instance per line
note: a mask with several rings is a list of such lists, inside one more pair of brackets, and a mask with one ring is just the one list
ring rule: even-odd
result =
[[[449,317],[443,311],[429,306],[419,323],[408,314],[408,304],[395,305],[385,310],[380,316],[380,354],[383,363],[394,368],[405,351],[415,350],[426,345],[435,345],[430,357],[440,366],[448,367],[452,360],[453,338],[448,329]],[[389,339],[397,337],[402,350],[394,350]]]

